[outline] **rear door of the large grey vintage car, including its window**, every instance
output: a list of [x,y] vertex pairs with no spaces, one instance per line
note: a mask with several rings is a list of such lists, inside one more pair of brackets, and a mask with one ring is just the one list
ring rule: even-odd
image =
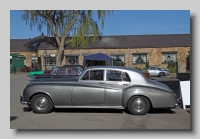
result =
[[122,106],[123,89],[130,86],[128,73],[120,70],[106,70],[105,104]]

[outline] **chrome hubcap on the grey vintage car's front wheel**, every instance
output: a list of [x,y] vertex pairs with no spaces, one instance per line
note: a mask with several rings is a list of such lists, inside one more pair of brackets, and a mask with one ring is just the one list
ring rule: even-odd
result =
[[35,107],[38,110],[45,110],[49,106],[49,101],[45,97],[39,97],[35,101]]

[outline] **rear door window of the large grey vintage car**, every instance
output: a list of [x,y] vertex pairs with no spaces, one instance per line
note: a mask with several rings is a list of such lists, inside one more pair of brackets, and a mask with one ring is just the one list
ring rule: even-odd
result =
[[106,81],[122,81],[122,72],[118,70],[107,70]]

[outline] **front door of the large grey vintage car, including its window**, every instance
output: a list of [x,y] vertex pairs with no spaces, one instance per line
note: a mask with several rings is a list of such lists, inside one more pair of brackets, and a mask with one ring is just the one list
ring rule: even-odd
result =
[[74,85],[72,105],[101,105],[104,104],[104,97],[104,70],[87,70]]

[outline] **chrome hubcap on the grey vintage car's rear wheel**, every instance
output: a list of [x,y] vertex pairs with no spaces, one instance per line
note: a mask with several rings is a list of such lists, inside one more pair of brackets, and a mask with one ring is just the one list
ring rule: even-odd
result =
[[145,101],[141,98],[136,98],[132,102],[132,108],[136,112],[142,112],[146,109],[146,107]]

